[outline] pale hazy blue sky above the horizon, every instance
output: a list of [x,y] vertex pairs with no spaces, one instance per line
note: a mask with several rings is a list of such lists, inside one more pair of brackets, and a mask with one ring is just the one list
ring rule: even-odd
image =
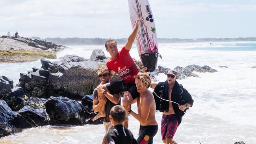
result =
[[[159,38],[256,37],[256,0],[148,0]],[[128,0],[0,0],[0,35],[127,38]]]

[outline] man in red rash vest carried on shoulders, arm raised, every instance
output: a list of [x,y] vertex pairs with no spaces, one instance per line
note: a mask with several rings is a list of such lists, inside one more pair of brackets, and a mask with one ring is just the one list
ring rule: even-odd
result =
[[[117,42],[115,40],[108,39],[105,42],[106,50],[111,55],[111,58],[107,62],[107,67],[111,72],[110,77],[112,77],[116,72],[122,78],[122,81],[106,83],[105,85],[102,85],[102,87],[112,94],[128,91],[129,96],[126,96],[122,100],[124,107],[128,107],[129,103],[135,103],[137,101],[136,98],[139,96],[134,78],[134,76],[139,73],[139,70],[132,60],[129,52],[136,38],[139,29],[139,22],[142,21],[143,19],[137,20],[134,31],[128,37],[125,46],[120,50],[120,52],[117,50]],[[124,122],[124,126],[128,128],[128,119]]]

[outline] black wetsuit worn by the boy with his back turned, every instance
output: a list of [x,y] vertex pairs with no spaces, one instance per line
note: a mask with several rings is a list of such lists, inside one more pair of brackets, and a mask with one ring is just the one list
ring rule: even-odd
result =
[[116,125],[114,129],[109,131],[107,140],[108,144],[138,144],[132,132],[121,124]]

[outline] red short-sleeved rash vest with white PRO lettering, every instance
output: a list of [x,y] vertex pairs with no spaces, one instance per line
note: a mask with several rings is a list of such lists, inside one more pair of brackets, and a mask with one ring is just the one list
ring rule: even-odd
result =
[[135,83],[134,76],[139,73],[129,50],[126,50],[125,47],[122,47],[117,57],[111,57],[108,60],[107,67],[109,70],[115,71],[124,80],[124,83]]

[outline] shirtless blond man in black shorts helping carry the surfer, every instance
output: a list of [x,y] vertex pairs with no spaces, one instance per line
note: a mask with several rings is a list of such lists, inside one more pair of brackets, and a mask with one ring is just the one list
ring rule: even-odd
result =
[[[126,111],[139,120],[140,127],[137,142],[141,143],[143,138],[147,135],[149,136],[147,144],[152,144],[153,137],[158,131],[158,123],[155,118],[156,103],[154,96],[152,92],[148,90],[148,87],[151,84],[151,79],[147,73],[139,73],[136,76],[135,84],[139,92],[139,96],[137,98],[138,113],[132,111],[130,104],[129,107],[126,107]],[[124,97],[127,96],[130,96],[130,93],[124,92]]]

